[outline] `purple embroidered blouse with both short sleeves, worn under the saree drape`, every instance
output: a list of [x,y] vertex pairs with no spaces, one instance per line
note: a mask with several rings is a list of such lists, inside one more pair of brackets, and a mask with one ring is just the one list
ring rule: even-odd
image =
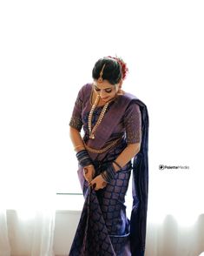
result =
[[[81,90],[78,92],[74,110],[69,122],[69,125],[78,131],[81,131],[83,127],[83,139],[86,143],[89,140],[88,117],[92,106],[90,103],[91,90],[91,84],[85,84],[82,86]],[[113,104],[115,104],[115,101],[109,104],[106,112],[111,110],[111,106]],[[95,117],[95,122],[101,111],[102,106],[95,108],[93,114],[93,117]],[[94,124],[92,123],[92,125]],[[100,125],[102,125],[102,123]],[[99,127],[97,129],[99,129]],[[127,109],[122,115],[122,119],[120,120],[119,125],[115,127],[115,130],[107,140],[107,143],[113,141],[115,138],[121,137],[122,134],[124,134],[127,144],[141,143],[141,111],[139,105],[135,102],[132,102],[128,105]]]

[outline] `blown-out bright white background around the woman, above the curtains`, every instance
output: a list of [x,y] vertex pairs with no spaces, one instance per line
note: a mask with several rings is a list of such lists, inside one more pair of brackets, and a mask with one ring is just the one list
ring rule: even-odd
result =
[[[149,214],[156,221],[174,212],[189,222],[203,212],[203,13],[202,1],[2,1],[6,204],[81,192],[70,115],[95,61],[116,54],[129,68],[123,90],[148,106]],[[190,169],[159,171],[161,164]]]

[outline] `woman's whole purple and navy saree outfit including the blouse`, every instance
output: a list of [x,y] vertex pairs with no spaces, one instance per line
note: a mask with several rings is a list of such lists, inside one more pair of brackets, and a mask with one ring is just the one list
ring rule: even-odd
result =
[[[78,176],[84,195],[84,205],[69,256],[142,256],[148,211],[148,109],[140,99],[125,92],[109,104],[102,123],[89,139],[88,118],[91,109],[92,85],[85,84],[78,93],[69,125],[81,131],[88,148],[100,150],[117,139],[106,152],[89,152],[95,165],[95,176],[106,170],[128,144],[140,142],[141,149],[133,161],[116,172],[115,179],[105,188],[94,191],[83,179],[82,166]],[[94,126],[102,107],[93,113]],[[133,206],[131,218],[126,216],[125,194],[133,172]]]

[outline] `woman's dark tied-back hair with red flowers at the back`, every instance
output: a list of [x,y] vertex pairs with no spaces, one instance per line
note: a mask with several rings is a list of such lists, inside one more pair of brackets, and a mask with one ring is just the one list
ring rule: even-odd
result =
[[[118,84],[121,79],[126,77],[128,68],[122,59],[117,57],[102,57],[95,63],[93,68],[92,77],[94,79],[98,79],[100,77],[103,64],[105,64],[105,67],[102,72],[102,79],[108,80],[110,84]],[[125,73],[122,72],[122,65],[125,65]]]

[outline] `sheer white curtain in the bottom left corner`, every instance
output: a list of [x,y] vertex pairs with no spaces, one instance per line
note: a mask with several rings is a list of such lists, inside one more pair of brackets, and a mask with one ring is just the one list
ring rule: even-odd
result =
[[54,256],[55,216],[48,205],[0,211],[0,255]]

